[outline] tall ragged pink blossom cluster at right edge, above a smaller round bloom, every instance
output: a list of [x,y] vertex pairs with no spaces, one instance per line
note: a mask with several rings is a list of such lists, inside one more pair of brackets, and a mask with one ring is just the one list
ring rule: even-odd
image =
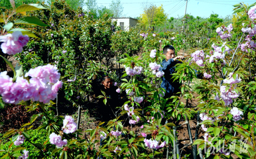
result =
[[226,91],[226,85],[222,85],[220,87],[220,92],[221,92],[220,97],[222,97],[222,99],[224,100],[225,105],[230,105],[231,103],[233,103],[233,99],[239,97],[239,94],[233,90],[233,89],[235,89],[235,86],[232,87],[232,84],[239,83],[240,81],[241,81],[241,79],[238,78],[237,75],[236,75],[236,78],[233,79],[232,72],[229,74],[229,78],[224,79],[224,83],[230,84],[230,88],[227,89],[227,91]]

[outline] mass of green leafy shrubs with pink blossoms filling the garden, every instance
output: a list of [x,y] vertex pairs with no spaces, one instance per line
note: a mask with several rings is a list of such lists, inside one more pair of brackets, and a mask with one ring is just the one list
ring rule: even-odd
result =
[[[247,14],[235,23],[218,23],[217,36],[190,41],[190,34],[183,41],[178,32],[164,38],[154,30],[123,32],[107,15],[95,19],[64,1],[51,7],[10,2],[13,10],[0,17],[0,56],[13,76],[1,70],[0,102],[37,113],[19,129],[1,134],[1,158],[256,158],[256,3],[234,5],[234,13]],[[207,30],[202,34],[207,36]],[[161,48],[172,44],[177,53],[186,42],[202,49],[176,65],[173,79],[182,83],[180,94],[165,99]],[[13,66],[7,55],[19,64]],[[111,70],[114,61],[119,70],[124,67],[119,76]],[[125,92],[125,101],[116,119],[82,131],[81,107],[90,102],[92,80],[102,71],[118,81],[117,92]],[[194,87],[198,74],[203,79]],[[195,94],[198,105],[190,107]],[[99,97],[107,104],[104,92]],[[77,122],[58,114],[58,101],[64,99],[78,107]],[[194,136],[191,119],[197,121]],[[190,138],[188,155],[179,146],[180,120]],[[34,123],[40,125],[34,129]]]

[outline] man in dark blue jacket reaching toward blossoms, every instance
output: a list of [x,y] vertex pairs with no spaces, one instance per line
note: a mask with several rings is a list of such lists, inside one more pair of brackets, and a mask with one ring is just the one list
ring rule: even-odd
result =
[[173,81],[172,74],[175,72],[175,65],[181,63],[178,59],[183,60],[184,56],[175,57],[175,49],[171,45],[164,46],[163,52],[166,59],[162,60],[162,68],[160,68],[164,72],[161,87],[166,90],[164,98],[168,98],[180,91],[180,83],[177,80]]

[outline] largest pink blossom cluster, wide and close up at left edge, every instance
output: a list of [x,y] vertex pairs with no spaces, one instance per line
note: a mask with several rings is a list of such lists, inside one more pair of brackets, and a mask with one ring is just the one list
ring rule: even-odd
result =
[[5,103],[17,104],[30,99],[49,103],[56,98],[58,89],[62,87],[57,68],[50,64],[31,69],[25,76],[32,78],[28,81],[18,77],[16,82],[13,82],[13,78],[7,76],[7,72],[0,73],[0,94]]

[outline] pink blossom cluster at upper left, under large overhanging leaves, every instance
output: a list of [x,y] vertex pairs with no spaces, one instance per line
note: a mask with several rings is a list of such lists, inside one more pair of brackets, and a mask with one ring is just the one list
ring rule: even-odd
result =
[[13,34],[0,36],[1,49],[5,54],[17,54],[23,51],[23,47],[29,42],[29,36],[23,35],[20,31],[15,31]]

